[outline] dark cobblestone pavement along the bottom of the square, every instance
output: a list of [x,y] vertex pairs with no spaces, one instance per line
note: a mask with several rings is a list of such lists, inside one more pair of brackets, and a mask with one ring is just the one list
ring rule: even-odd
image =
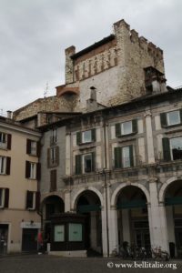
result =
[[182,261],[123,261],[119,258],[60,258],[47,255],[0,257],[0,273],[182,272]]

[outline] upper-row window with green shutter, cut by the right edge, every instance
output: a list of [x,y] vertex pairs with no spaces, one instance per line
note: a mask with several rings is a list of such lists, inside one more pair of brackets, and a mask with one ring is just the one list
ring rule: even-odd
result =
[[160,114],[161,126],[176,126],[182,123],[182,110]]

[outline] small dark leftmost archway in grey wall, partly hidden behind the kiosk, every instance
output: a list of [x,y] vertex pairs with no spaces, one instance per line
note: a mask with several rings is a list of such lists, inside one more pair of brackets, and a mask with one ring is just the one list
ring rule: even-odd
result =
[[49,242],[51,234],[51,217],[56,213],[65,212],[65,203],[63,199],[58,196],[45,197],[42,202],[42,212],[44,234],[47,242]]

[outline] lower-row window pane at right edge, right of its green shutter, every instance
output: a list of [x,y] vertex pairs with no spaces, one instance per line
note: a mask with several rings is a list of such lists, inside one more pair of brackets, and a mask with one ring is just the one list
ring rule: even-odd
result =
[[182,159],[182,137],[170,139],[170,150],[173,160]]

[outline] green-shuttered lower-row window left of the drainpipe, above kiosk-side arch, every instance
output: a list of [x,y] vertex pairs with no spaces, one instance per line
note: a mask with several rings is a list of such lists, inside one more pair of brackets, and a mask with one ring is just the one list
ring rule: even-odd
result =
[[76,175],[95,171],[95,153],[76,156]]

